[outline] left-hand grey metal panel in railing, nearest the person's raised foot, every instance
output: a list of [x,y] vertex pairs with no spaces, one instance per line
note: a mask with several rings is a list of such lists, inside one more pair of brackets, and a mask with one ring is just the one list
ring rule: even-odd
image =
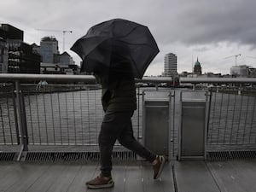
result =
[[155,154],[169,154],[169,101],[143,102],[143,143]]

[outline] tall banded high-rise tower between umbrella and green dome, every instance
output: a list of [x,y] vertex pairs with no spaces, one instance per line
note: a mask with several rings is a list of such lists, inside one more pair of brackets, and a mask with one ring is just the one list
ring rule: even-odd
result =
[[177,55],[168,53],[165,55],[164,76],[174,77],[177,75]]

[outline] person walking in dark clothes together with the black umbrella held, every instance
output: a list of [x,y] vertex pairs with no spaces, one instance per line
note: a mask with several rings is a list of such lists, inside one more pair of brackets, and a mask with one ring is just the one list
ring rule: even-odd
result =
[[101,173],[86,182],[88,188],[113,187],[111,155],[116,140],[152,163],[154,179],[160,177],[165,157],[138,143],[131,124],[137,108],[134,78],[143,78],[148,65],[160,51],[148,26],[119,18],[106,20],[91,26],[71,49],[83,60],[81,72],[94,73],[102,84],[105,115],[98,137]]

